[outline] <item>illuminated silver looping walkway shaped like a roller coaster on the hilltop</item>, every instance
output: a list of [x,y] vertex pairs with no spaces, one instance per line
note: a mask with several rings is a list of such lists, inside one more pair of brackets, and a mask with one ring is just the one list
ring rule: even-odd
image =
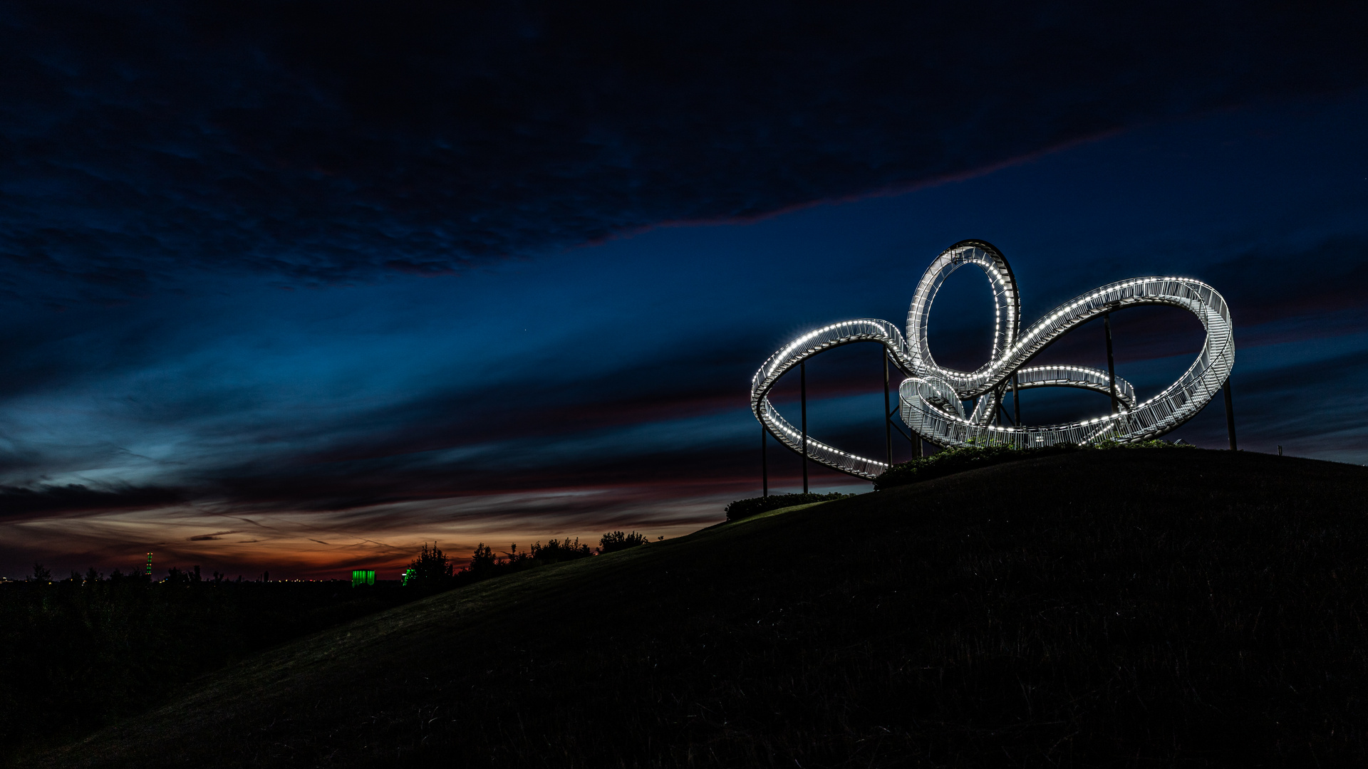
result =
[[[982,270],[993,289],[993,349],[988,363],[971,372],[943,367],[928,345],[928,319],[936,293],[960,267]],[[1138,402],[1129,382],[1108,371],[1083,365],[1027,365],[1052,342],[1089,320],[1127,307],[1166,305],[1192,312],[1207,330],[1197,359],[1172,384]],[[899,413],[922,439],[944,447],[1053,443],[1134,442],[1163,435],[1192,419],[1222,389],[1235,364],[1230,308],[1215,289],[1190,278],[1131,278],[1081,294],[1021,327],[1016,278],[1001,252],[985,241],[960,241],[945,249],[926,270],[907,311],[907,333],[886,320],[862,317],[803,334],[778,352],[751,379],[751,410],[781,443],[804,453],[803,431],[785,420],[769,401],[769,391],[788,371],[807,359],[854,342],[877,342],[889,359],[910,374],[897,387]],[[1115,413],[1083,421],[1047,426],[995,424],[1003,395],[1014,384],[1078,387],[1111,395]],[[975,400],[966,412],[963,401]],[[877,478],[888,462],[843,452],[806,438],[806,456],[829,468],[865,479]]]

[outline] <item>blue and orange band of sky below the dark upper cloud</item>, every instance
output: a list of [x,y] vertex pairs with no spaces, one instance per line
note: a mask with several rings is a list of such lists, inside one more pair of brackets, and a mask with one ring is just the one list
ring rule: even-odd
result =
[[[308,517],[315,538],[291,528],[254,543],[253,560],[286,561],[276,573],[393,557],[356,554],[367,539],[401,551],[618,524],[680,534],[755,491],[747,380],[769,352],[837,319],[902,323],[926,264],[966,237],[1011,260],[1026,319],[1126,276],[1211,282],[1237,322],[1241,445],[1365,462],[1368,412],[1352,382],[1368,328],[1361,293],[1341,283],[1368,253],[1368,151],[1353,129],[1365,118],[1363,94],[1224,111],[910,192],[661,226],[462,274],[301,286],[187,270],[112,305],[36,298],[7,320],[4,483],[168,497],[11,517],[10,571],[30,553],[59,561],[44,553],[57,542],[135,560],[141,540],[104,540],[130,516],[148,547],[223,564],[244,550],[216,550],[259,534],[189,536],[235,528],[224,514]],[[986,282],[956,274],[934,309],[937,354],[975,365],[988,309]],[[1116,319],[1118,371],[1145,394],[1190,363],[1201,334],[1176,311],[1133,312]],[[1099,365],[1100,333],[1074,335],[1051,354]],[[814,361],[815,435],[878,452],[878,360],[856,346]],[[1027,421],[1103,408],[1086,393],[1023,397]],[[1175,436],[1219,447],[1219,404]],[[796,461],[772,452],[776,484],[793,486]],[[453,505],[483,517],[453,530]],[[330,545],[294,553],[311,539]]]

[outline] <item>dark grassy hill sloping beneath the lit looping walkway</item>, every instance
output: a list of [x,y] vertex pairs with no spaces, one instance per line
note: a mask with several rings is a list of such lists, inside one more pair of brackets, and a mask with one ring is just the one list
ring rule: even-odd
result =
[[375,614],[30,765],[1364,765],[1365,494],[1227,452],[971,471]]

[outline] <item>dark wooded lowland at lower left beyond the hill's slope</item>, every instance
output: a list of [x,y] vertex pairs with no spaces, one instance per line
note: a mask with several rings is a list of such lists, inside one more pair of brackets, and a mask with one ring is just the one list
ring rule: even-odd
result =
[[171,572],[0,584],[0,766],[137,718],[209,670],[424,595],[397,582]]

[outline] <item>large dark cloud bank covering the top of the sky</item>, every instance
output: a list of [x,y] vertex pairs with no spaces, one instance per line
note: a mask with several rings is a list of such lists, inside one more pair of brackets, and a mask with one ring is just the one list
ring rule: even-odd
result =
[[324,282],[462,270],[1356,88],[1365,14],[8,3],[0,253],[103,300],[182,265]]

